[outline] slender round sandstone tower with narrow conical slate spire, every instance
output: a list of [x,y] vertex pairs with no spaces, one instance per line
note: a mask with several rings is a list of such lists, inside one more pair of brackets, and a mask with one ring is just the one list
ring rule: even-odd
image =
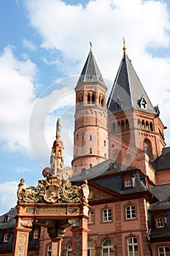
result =
[[88,59],[75,88],[74,174],[89,169],[108,158],[107,87],[93,56]]

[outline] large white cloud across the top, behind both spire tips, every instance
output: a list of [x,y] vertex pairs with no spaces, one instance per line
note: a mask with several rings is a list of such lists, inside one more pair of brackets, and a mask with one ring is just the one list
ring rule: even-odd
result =
[[[63,53],[63,64],[61,60],[57,64],[68,75],[76,74],[77,70],[81,72],[88,42],[92,41],[103,77],[115,80],[125,37],[128,56],[153,105],[158,103],[161,113],[167,108],[169,59],[153,57],[147,50],[156,52],[169,47],[166,3],[161,0],[96,0],[82,7],[82,4],[71,5],[61,0],[29,0],[27,8],[32,26],[42,36],[42,47]],[[74,64],[70,64],[72,61]],[[166,118],[166,125],[170,127],[170,113],[163,113],[161,117]]]

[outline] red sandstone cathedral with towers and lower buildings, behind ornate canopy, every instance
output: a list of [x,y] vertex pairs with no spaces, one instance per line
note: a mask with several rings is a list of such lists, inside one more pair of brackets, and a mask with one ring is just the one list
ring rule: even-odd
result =
[[[125,44],[108,101],[91,48],[75,93],[74,176],[70,181],[79,185],[88,180],[90,187],[88,255],[169,256],[170,148],[163,135],[166,127],[128,58]],[[15,210],[1,217],[0,255],[11,255],[14,217]],[[45,228],[33,228],[28,248],[29,256],[50,256]],[[61,256],[70,255],[75,254],[67,228]]]

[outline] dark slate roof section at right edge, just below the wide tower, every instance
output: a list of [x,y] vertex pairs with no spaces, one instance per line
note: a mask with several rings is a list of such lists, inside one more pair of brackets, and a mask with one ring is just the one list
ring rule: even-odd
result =
[[151,162],[155,170],[170,170],[170,147],[163,148],[160,157]]

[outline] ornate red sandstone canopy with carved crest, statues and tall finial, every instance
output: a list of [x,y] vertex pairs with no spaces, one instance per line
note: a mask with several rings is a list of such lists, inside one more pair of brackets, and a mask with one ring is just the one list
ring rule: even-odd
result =
[[[24,178],[18,184],[18,213],[16,215],[13,253],[26,256],[28,237],[33,225],[47,227],[51,238],[51,255],[61,255],[61,242],[66,227],[72,227],[73,255],[88,255],[88,182],[73,186],[70,167],[63,170],[63,143],[58,118],[56,140],[53,143],[51,167],[42,170],[45,177],[36,187],[24,188]],[[53,158],[53,159],[52,159]]]

